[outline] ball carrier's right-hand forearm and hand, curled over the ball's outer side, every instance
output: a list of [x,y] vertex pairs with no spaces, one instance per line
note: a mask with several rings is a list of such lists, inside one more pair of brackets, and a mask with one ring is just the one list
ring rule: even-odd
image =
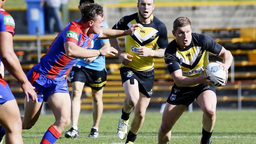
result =
[[231,52],[222,47],[221,52],[217,56],[223,59],[223,63],[219,61],[216,62],[223,66],[224,70],[226,70],[226,73],[228,74],[228,68],[230,67],[233,61],[233,56]]

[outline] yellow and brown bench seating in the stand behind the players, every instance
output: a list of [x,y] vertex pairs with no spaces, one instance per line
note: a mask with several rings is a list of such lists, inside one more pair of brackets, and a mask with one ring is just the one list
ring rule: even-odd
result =
[[[252,80],[249,84],[242,85],[242,89],[244,90],[255,90],[255,79],[256,79],[256,49],[255,45],[239,45],[241,42],[245,43],[253,43],[255,40],[255,35],[250,33],[250,35],[245,35],[245,31],[249,31],[251,29],[243,29],[242,28],[210,28],[210,29],[202,29],[202,33],[206,33],[209,35],[213,35],[216,41],[225,44],[232,43],[236,44],[234,47],[224,46],[226,49],[230,50],[235,59],[235,80]],[[223,32],[224,31],[224,32]],[[253,29],[253,33],[255,33],[255,29]],[[218,37],[218,36],[225,36]],[[41,40],[42,54],[43,56],[48,50],[48,46],[51,44],[52,40],[56,37],[56,35],[43,35],[39,37]],[[250,41],[248,40],[251,37]],[[174,39],[173,35],[168,35],[169,42]],[[242,40],[241,40],[242,39]],[[22,64],[22,68],[25,72],[28,72],[33,65],[37,63],[37,37],[36,36],[27,36],[27,35],[15,35],[13,37],[15,52],[18,55],[20,62]],[[121,49],[124,50],[124,37],[119,38],[119,44]],[[246,47],[246,48],[245,48]],[[219,59],[215,59],[210,55],[210,61],[215,61]],[[169,96],[169,92],[171,91],[171,87],[173,85],[173,79],[171,78],[164,59],[155,59],[155,83],[153,87],[154,96],[151,99],[150,105],[156,104],[161,105],[161,103],[165,103],[167,97]],[[108,70],[107,76],[107,84],[104,87],[103,94],[103,102],[104,109],[121,109],[122,103],[125,98],[124,90],[122,88],[121,76],[119,73],[120,62],[117,56],[107,55],[106,56],[106,68]],[[229,79],[231,78],[231,74],[228,75]],[[5,78],[8,81],[12,92],[15,95],[21,95],[22,89],[20,89],[19,84],[17,84],[17,80],[6,74]],[[69,84],[69,91],[72,91],[72,87]],[[237,95],[235,94],[238,90],[237,84],[229,83],[225,87],[217,87],[218,91],[228,91],[226,94],[218,94],[218,102],[236,102]],[[24,97],[24,96],[23,96]],[[84,110],[92,109],[92,95],[91,89],[89,87],[85,87],[83,89],[82,94],[82,105],[81,108]],[[256,101],[255,97],[250,95],[243,95],[241,97],[242,101]],[[23,106],[24,98],[18,98],[17,102],[20,106]],[[149,105],[149,107],[150,107]]]

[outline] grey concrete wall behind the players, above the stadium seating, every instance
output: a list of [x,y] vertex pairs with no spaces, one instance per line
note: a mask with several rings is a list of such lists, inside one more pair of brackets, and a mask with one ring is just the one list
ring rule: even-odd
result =
[[[8,11],[8,10],[7,10]],[[112,27],[121,17],[137,12],[135,6],[104,6],[104,17],[109,27]],[[15,31],[26,34],[26,11],[8,11],[15,19]],[[247,27],[256,26],[256,2],[252,4],[206,5],[206,6],[158,6],[154,16],[167,26],[168,34],[173,29],[173,21],[180,16],[188,17],[192,22],[194,32],[200,33],[200,28]],[[80,17],[79,11],[70,11],[70,21]]]

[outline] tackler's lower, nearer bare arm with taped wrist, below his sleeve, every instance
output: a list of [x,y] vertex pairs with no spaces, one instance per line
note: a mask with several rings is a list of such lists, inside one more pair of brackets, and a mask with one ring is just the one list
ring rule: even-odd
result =
[[[88,58],[88,57],[95,57],[100,55],[99,50],[89,50],[81,48],[80,46],[77,46],[74,42],[65,42],[64,43],[64,49],[65,53],[74,58]],[[115,55],[113,53],[117,53],[117,50],[113,47],[104,47],[101,49],[101,55]]]

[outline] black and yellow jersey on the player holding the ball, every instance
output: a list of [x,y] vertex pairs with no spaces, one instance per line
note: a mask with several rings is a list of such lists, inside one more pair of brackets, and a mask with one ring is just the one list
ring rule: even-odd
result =
[[208,65],[208,52],[218,55],[221,49],[222,46],[210,36],[192,33],[191,43],[184,49],[179,48],[176,39],[171,41],[164,59],[170,74],[182,69],[183,76],[195,78],[200,76],[201,68],[205,69]]

